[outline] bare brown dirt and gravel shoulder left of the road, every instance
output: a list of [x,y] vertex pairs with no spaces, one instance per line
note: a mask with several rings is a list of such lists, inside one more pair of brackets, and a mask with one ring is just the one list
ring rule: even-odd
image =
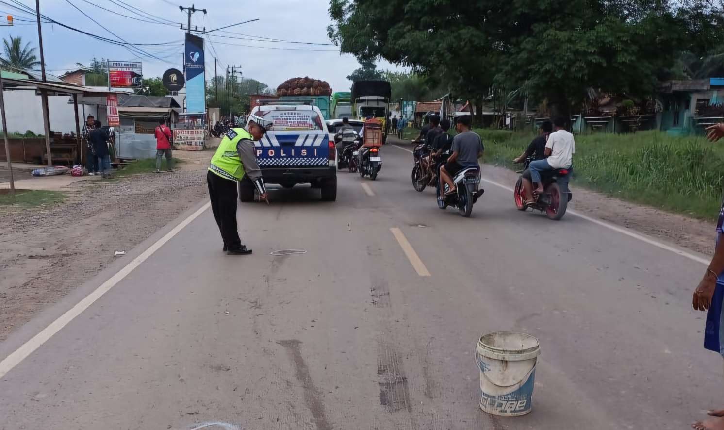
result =
[[[211,151],[174,151],[176,172],[72,182],[57,206],[0,208],[0,342],[206,197]],[[85,178],[85,177],[84,177]],[[43,180],[40,178],[39,180]]]

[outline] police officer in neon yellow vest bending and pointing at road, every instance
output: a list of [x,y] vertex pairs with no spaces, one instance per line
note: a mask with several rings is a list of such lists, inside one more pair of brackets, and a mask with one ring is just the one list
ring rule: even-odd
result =
[[229,129],[211,158],[211,166],[206,174],[211,210],[222,233],[224,251],[230,256],[251,254],[251,249],[241,244],[236,227],[237,184],[244,175],[253,182],[259,198],[269,203],[261,169],[256,164],[253,141],[261,139],[272,125],[272,122],[252,115],[248,131],[243,127]]

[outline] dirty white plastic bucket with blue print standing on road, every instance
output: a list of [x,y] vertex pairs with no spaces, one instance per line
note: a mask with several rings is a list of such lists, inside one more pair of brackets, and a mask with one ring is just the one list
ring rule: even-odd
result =
[[538,340],[518,332],[492,332],[478,340],[480,408],[497,416],[531,412]]

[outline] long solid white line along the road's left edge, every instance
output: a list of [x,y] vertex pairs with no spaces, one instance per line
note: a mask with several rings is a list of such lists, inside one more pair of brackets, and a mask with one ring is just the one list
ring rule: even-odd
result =
[[40,333],[35,334],[32,339],[28,340],[28,342],[25,342],[21,347],[17,348],[14,353],[8,355],[3,361],[0,361],[0,379],[5,376],[7,372],[11,371],[12,368],[25,360],[25,358],[28,358],[28,355],[32,354],[35,350],[41,347],[43,343],[53,337],[54,334],[59,332],[64,326],[67,326],[67,324],[70,323],[70,321],[73,321],[76,316],[79,316],[80,313],[85,311],[85,309],[88,309],[88,307],[92,305],[96,300],[103,297],[106,292],[109,292],[109,290],[111,290],[111,288],[118,284],[118,282],[121,282],[121,280],[125,278],[128,274],[130,274],[133,269],[140,266],[143,261],[146,261],[148,257],[152,256],[153,253],[161,248],[161,246],[171,240],[172,237],[177,235],[178,232],[184,229],[184,227],[188,226],[188,224],[190,224],[194,219],[198,218],[198,216],[201,215],[203,211],[206,211],[209,206],[211,206],[211,202],[208,202],[205,205],[201,206],[201,208],[198,208],[197,211],[195,211],[193,214],[190,214],[187,219],[184,219],[182,222],[180,222],[180,224],[178,224],[170,232],[164,235],[164,237],[161,237],[161,239],[157,240],[156,243],[153,243],[153,245],[149,246],[148,249],[143,251],[143,253],[140,253],[140,256],[133,258],[130,263],[126,264],[123,267],[123,269],[120,269],[116,274],[110,277],[110,279],[101,284],[100,287],[96,288],[96,290],[93,290],[93,292],[85,296],[83,300],[80,300],[80,302],[76,303],[75,306],[70,308],[69,311],[59,316],[58,319],[51,322],[51,324],[44,328]]

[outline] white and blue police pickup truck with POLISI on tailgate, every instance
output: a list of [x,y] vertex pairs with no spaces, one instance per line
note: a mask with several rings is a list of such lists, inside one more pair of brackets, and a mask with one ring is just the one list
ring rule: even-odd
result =
[[[272,130],[254,142],[264,182],[285,188],[311,184],[319,188],[322,201],[337,200],[337,151],[319,108],[262,105],[251,114],[274,122]],[[253,201],[254,190],[250,180],[242,180],[240,200]]]

